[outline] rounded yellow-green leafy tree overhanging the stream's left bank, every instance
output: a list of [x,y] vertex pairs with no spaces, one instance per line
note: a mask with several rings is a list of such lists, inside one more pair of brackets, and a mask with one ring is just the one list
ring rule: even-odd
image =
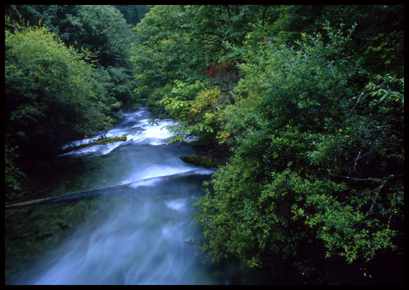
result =
[[85,54],[45,27],[6,30],[5,48],[6,139],[26,156],[109,128],[121,104]]

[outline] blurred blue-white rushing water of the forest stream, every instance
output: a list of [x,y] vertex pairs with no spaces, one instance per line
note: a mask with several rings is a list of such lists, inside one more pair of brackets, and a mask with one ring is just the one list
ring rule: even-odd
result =
[[214,169],[184,163],[198,149],[166,145],[172,121],[149,119],[125,114],[106,136],[126,142],[57,156],[53,199],[5,210],[5,284],[242,283],[234,264],[211,266],[196,246],[193,203]]

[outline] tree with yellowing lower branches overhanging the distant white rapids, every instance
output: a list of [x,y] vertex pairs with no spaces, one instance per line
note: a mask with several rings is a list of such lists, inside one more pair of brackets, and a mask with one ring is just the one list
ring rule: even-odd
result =
[[[178,138],[214,139],[218,122],[211,114],[231,101],[238,80],[231,45],[241,43],[260,11],[253,5],[158,5],[137,25],[136,92],[157,112],[181,121],[173,128]],[[201,108],[206,120],[192,118],[191,106],[217,86],[220,98]]]

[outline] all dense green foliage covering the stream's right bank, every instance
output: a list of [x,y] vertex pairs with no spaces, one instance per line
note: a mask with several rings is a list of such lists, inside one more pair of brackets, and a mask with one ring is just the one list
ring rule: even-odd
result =
[[212,261],[377,283],[390,260],[402,282],[403,15],[161,5],[137,25],[136,92],[179,120],[175,140],[230,155],[197,203]]

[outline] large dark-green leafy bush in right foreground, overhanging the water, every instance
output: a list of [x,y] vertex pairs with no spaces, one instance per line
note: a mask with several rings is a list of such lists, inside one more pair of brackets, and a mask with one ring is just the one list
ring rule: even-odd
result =
[[243,99],[222,134],[234,138],[233,156],[197,204],[213,261],[291,265],[305,281],[329,282],[336,267],[364,279],[376,255],[401,246],[403,80],[363,86],[350,34],[326,30],[330,42],[303,34],[297,49],[242,48]]

